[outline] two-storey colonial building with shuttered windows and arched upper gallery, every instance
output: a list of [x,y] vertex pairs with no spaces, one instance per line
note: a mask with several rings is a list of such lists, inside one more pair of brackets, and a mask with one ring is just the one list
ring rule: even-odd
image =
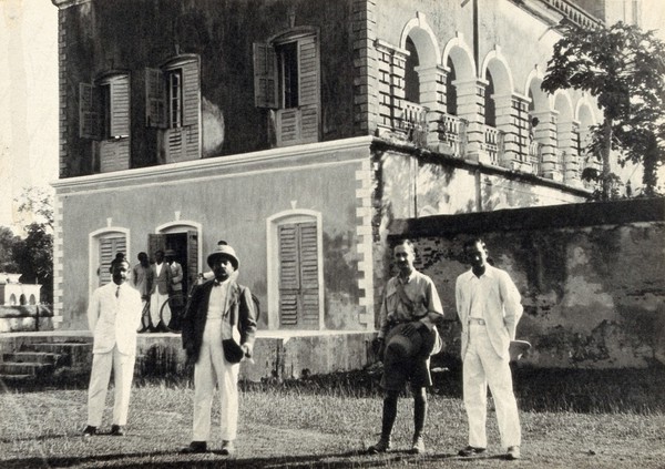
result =
[[263,333],[372,332],[390,220],[590,193],[598,110],[540,89],[581,1],[52,1],[61,328],[114,253],[174,249],[188,287],[226,239]]

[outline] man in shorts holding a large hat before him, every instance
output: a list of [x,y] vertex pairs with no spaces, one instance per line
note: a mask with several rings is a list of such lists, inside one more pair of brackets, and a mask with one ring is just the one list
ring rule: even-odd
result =
[[393,257],[399,273],[386,285],[377,338],[379,359],[383,361],[381,386],[386,392],[381,438],[368,448],[368,452],[385,452],[390,449],[397,400],[406,381],[410,381],[415,427],[411,452],[421,453],[424,452],[422,436],[427,420],[426,388],[432,385],[430,355],[440,348],[434,323],[443,318],[443,307],[434,283],[413,267],[416,255],[409,239],[395,246]]

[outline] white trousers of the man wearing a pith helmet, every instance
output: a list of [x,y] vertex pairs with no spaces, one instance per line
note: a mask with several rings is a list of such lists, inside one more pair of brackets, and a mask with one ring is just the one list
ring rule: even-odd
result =
[[215,394],[215,377],[219,388],[222,440],[236,439],[238,429],[238,371],[241,364],[229,364],[222,347],[222,319],[207,319],[198,360],[194,367],[193,441],[211,437],[211,412]]

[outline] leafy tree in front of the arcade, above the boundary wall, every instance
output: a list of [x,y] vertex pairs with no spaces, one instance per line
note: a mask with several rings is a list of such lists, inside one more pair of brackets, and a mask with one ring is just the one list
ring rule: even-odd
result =
[[620,151],[620,164],[642,164],[645,194],[654,194],[665,162],[665,44],[654,31],[623,22],[590,30],[567,26],[541,88],[549,93],[572,88],[596,98],[603,122],[592,128],[587,150],[602,161],[602,200],[610,198],[616,180],[610,170],[613,150]]

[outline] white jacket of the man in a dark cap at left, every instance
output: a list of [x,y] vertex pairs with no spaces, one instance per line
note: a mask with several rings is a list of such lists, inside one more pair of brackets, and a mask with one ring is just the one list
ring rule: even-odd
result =
[[136,354],[136,329],[141,326],[143,304],[141,294],[127,282],[120,286],[113,282],[99,287],[90,298],[88,325],[94,337],[93,354],[111,351],[114,345],[125,355]]

